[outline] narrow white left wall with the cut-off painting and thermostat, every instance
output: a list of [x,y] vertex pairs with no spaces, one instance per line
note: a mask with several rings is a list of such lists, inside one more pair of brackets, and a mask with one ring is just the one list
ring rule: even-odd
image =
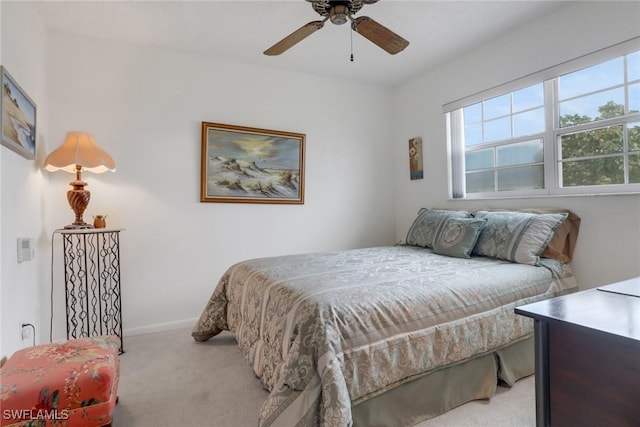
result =
[[[37,341],[46,336],[43,313],[48,310],[49,250],[46,235],[47,189],[40,164],[47,143],[46,39],[35,4],[0,2],[1,63],[36,102],[37,156],[27,160],[0,147],[2,215],[0,217],[0,295],[2,311],[0,356],[31,344],[22,340],[20,324],[31,323]],[[32,261],[18,263],[16,239],[36,241]]]

